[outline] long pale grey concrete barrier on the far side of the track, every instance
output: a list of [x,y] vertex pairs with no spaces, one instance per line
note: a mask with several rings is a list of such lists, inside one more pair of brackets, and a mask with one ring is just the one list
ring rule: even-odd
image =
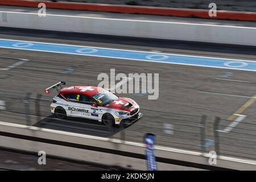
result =
[[[256,46],[255,27],[0,11],[1,27]],[[65,23],[64,23],[65,22]]]

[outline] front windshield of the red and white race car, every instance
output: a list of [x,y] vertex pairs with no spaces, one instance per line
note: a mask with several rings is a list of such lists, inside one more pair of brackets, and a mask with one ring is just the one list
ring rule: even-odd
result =
[[117,96],[115,94],[109,92],[108,90],[104,89],[100,92],[94,94],[93,98],[100,103],[101,105],[105,106],[110,104],[110,102],[113,102],[114,100],[117,100]]

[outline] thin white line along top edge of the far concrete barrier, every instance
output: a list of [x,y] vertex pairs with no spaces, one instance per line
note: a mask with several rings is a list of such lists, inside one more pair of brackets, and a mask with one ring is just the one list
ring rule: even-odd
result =
[[[0,13],[28,14],[28,15],[36,15],[36,16],[38,16],[38,13],[24,13],[24,12],[14,12],[14,11],[0,11]],[[230,28],[256,29],[256,27],[227,26],[227,25],[219,25],[219,24],[163,22],[163,21],[152,21],[152,20],[117,19],[117,18],[98,18],[98,17],[90,17],[90,16],[71,16],[71,15],[58,15],[58,14],[46,14],[46,16],[60,16],[60,17],[87,18],[87,19],[104,19],[104,20],[119,20],[119,21],[126,21],[126,22],[152,22],[152,23],[167,23],[167,24],[189,24],[189,25],[210,26],[210,27],[230,27]]]

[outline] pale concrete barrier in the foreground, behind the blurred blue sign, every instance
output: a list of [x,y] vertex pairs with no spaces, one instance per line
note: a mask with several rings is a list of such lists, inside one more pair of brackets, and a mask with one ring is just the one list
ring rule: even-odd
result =
[[[45,151],[47,155],[146,170],[144,144],[94,137],[33,126],[0,122],[0,146],[24,151]],[[155,147],[159,170],[238,169],[255,170],[256,162],[220,156],[210,166],[200,152]]]

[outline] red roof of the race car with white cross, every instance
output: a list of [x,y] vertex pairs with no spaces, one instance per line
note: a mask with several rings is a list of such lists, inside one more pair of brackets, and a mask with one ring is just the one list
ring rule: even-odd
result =
[[94,94],[100,92],[103,88],[98,86],[89,86],[89,85],[75,85],[75,86],[66,86],[60,90],[61,94],[66,93],[75,93],[75,94],[85,94],[86,96],[93,96]]

